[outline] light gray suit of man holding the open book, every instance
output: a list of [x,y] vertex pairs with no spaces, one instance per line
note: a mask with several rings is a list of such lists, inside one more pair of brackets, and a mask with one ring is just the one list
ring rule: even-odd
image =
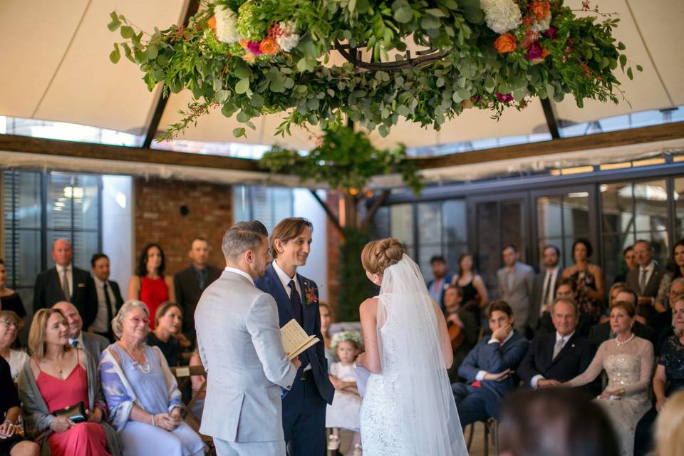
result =
[[224,271],[195,311],[197,346],[207,370],[199,432],[219,455],[284,455],[281,388],[296,368],[285,356],[276,301],[247,277]]

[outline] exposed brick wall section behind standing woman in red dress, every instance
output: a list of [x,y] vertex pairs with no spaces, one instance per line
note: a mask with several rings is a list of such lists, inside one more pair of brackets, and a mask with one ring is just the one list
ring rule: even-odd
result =
[[[230,185],[140,177],[134,186],[134,267],[140,249],[157,242],[166,256],[166,274],[175,274],[190,264],[187,252],[194,237],[209,241],[209,263],[219,268],[225,265],[221,240],[233,222]],[[181,206],[187,207],[187,215],[181,215]]]

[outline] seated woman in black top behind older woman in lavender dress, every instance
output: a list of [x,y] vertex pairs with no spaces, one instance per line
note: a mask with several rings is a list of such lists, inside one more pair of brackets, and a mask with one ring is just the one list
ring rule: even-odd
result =
[[[166,301],[157,307],[155,329],[147,334],[147,345],[158,347],[169,366],[180,364],[182,346],[179,338],[185,336],[180,332],[183,323],[183,309],[175,302]],[[187,345],[190,345],[187,343]]]

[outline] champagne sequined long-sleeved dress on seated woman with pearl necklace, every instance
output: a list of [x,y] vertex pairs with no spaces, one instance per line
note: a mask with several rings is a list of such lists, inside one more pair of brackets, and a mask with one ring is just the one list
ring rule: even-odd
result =
[[618,345],[617,339],[601,343],[586,371],[568,382],[569,386],[590,383],[601,371],[608,374],[606,390],[625,388],[619,399],[596,399],[611,418],[620,440],[621,455],[634,453],[634,431],[644,413],[651,408],[648,386],[653,372],[653,344],[639,337]]

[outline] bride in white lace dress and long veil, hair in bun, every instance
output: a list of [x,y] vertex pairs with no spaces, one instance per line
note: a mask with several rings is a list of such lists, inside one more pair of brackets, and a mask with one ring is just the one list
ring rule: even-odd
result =
[[366,244],[366,275],[380,295],[359,309],[371,372],[361,405],[363,454],[467,455],[447,368],[452,350],[444,316],[418,265],[397,239]]

